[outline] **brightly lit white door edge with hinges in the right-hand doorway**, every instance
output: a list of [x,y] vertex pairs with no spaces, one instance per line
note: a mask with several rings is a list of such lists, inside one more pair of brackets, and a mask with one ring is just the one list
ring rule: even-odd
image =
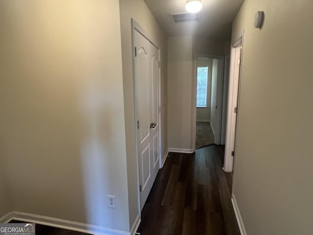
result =
[[230,72],[229,72],[229,93],[228,93],[228,110],[227,110],[227,129],[224,156],[224,171],[233,171],[235,140],[236,140],[236,123],[238,109],[238,90],[241,63],[241,47],[231,49]]

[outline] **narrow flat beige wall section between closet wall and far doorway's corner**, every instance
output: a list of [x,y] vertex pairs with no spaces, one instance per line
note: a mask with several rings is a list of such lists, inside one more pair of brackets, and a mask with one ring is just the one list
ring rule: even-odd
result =
[[192,37],[168,38],[168,146],[170,148],[191,149],[191,71]]

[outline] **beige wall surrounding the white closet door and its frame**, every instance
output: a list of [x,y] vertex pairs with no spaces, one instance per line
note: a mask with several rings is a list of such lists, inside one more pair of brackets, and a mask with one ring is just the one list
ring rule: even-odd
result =
[[161,51],[161,107],[162,107],[162,157],[167,145],[167,36],[159,27],[143,0],[120,0],[123,85],[125,102],[127,174],[129,184],[130,223],[138,215],[138,193],[136,174],[134,85],[132,62],[131,19],[133,18],[148,35],[155,40]]

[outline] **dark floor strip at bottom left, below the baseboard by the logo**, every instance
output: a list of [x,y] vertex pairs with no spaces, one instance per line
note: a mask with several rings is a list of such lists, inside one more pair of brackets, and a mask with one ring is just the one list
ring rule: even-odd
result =
[[[19,220],[11,220],[9,223],[27,223]],[[42,224],[36,224],[36,235],[90,235],[68,229],[60,229]]]

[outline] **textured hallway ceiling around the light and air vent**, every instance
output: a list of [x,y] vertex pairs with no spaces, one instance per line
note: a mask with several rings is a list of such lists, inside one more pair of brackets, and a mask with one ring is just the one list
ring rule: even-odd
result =
[[170,14],[186,12],[186,0],[144,0],[168,36],[198,35],[230,39],[231,23],[244,0],[202,0],[200,22],[174,23]]

